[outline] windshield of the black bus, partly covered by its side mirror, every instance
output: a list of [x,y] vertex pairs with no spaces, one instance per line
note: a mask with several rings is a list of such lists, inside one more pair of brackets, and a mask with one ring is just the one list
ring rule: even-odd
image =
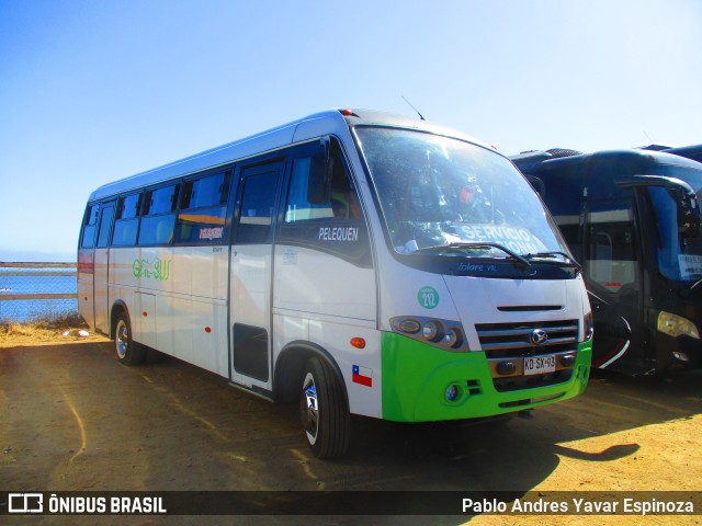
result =
[[[684,181],[702,199],[702,170],[657,165],[653,175],[665,175]],[[656,216],[656,255],[660,273],[668,279],[695,282],[702,278],[702,236],[694,239],[680,236],[678,211],[673,197],[661,186],[650,186],[648,195]]]

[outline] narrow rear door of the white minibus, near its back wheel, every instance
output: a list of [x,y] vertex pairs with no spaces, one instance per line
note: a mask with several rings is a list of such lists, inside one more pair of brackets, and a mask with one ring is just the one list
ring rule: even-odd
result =
[[109,301],[109,266],[110,237],[116,202],[104,203],[100,210],[98,241],[95,243],[93,301],[95,313],[95,329],[110,334],[110,301]]

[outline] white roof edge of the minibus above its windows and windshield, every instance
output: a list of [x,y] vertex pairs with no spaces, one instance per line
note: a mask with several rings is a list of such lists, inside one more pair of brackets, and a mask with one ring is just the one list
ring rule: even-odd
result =
[[367,110],[328,110],[307,117],[283,124],[275,128],[195,153],[178,161],[118,181],[104,184],[90,195],[89,202],[149,186],[162,181],[182,178],[192,173],[228,164],[285,146],[310,140],[324,135],[343,136],[349,126],[394,126],[418,129],[455,137],[495,150],[490,146],[460,132],[445,128],[427,121],[409,118],[389,113]]

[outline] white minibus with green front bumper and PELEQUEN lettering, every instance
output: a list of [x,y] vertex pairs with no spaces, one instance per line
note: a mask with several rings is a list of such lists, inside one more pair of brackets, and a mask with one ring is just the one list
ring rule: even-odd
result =
[[350,415],[506,415],[581,393],[580,266],[494,148],[327,111],[95,190],[80,312],[123,364],[157,350],[299,400],[320,458]]

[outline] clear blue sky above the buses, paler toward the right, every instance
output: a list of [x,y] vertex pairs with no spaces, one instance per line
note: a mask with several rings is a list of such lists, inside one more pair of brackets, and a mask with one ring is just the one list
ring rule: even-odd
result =
[[505,155],[702,142],[699,0],[0,0],[0,261],[98,186],[329,108]]

